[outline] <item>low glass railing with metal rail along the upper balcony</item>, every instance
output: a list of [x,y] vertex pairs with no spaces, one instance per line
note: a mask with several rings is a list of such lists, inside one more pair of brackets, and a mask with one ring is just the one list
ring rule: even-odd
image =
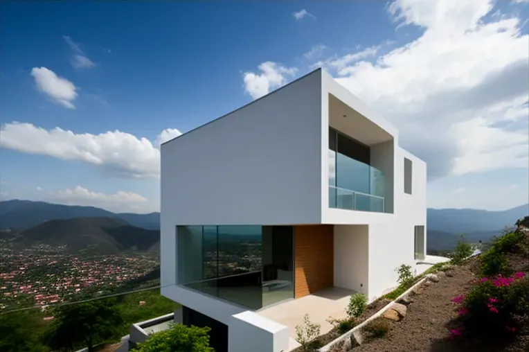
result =
[[384,197],[329,186],[329,207],[384,213]]

